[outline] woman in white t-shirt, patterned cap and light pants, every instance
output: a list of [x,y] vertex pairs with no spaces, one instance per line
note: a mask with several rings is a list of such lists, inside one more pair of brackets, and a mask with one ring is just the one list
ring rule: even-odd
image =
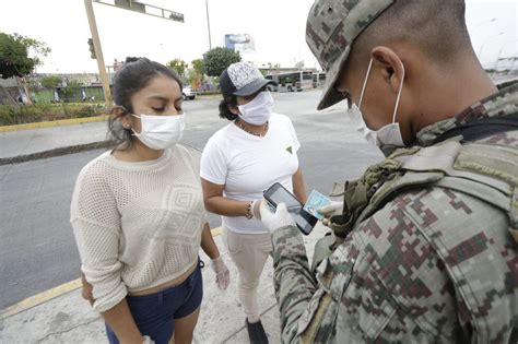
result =
[[239,272],[239,300],[250,342],[268,342],[257,301],[259,278],[272,251],[259,220],[262,193],[274,182],[306,201],[292,121],[273,114],[266,80],[252,64],[229,66],[220,78],[220,116],[232,122],[214,133],[201,157],[205,209],[222,215],[224,240]]

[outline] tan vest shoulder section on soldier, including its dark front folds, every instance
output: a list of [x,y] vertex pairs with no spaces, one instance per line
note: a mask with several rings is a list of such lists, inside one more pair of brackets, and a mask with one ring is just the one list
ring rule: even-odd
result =
[[435,186],[502,209],[509,215],[509,230],[518,242],[518,147],[480,142],[462,145],[460,139],[398,150],[367,168],[358,180],[335,186],[331,195],[344,199],[342,214],[330,222],[337,240],[404,190]]

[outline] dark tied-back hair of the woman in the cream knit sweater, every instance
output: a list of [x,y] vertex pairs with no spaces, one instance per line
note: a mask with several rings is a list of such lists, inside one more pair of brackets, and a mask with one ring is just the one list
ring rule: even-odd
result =
[[[125,67],[115,74],[113,88],[115,105],[122,107],[127,114],[133,114],[131,98],[160,74],[176,81],[181,90],[180,78],[167,67],[146,58],[127,61]],[[110,146],[120,146],[120,150],[128,150],[132,146],[133,140],[131,129],[123,128],[117,117],[109,118],[108,142]]]

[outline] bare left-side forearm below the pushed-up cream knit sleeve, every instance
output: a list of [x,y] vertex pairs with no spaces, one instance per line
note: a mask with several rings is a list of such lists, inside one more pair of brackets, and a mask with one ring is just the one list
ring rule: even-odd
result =
[[102,312],[102,315],[109,328],[117,335],[120,344],[142,344],[142,334],[134,323],[126,298],[114,308]]

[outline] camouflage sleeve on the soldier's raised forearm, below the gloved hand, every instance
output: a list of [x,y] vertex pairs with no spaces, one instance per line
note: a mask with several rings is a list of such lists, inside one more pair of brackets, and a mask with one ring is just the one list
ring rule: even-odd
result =
[[316,290],[309,271],[306,248],[301,232],[293,226],[276,229],[273,242],[273,284],[281,312],[283,343],[296,340],[297,323]]

